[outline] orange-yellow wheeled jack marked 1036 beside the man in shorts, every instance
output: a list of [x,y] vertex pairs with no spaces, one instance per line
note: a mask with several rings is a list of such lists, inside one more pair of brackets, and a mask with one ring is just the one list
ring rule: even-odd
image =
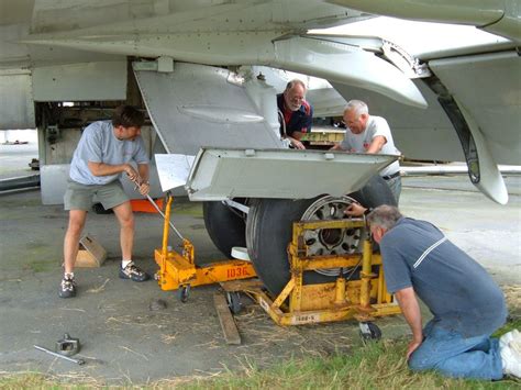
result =
[[[184,238],[170,222],[173,198],[167,197],[164,227],[163,245],[154,250],[154,257],[159,266],[156,279],[162,290],[178,290],[178,298],[186,302],[190,293],[190,287],[210,285],[226,280],[253,278],[255,270],[250,261],[226,260],[211,264],[206,267],[198,267],[195,263],[193,245]],[[181,254],[171,249],[168,245],[169,227],[182,241]]]

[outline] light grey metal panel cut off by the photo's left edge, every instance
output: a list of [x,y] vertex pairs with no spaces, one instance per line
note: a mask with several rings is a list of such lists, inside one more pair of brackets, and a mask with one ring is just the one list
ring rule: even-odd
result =
[[0,130],[34,129],[31,74],[21,69],[0,73]]

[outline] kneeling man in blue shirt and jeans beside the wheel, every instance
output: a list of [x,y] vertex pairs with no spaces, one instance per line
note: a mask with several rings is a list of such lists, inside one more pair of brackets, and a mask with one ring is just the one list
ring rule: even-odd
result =
[[[367,211],[352,204],[346,214]],[[409,367],[456,378],[521,377],[521,333],[490,338],[507,309],[487,271],[437,227],[403,218],[395,207],[376,208],[367,222],[380,246],[387,289],[412,331]],[[423,330],[417,296],[434,315]]]

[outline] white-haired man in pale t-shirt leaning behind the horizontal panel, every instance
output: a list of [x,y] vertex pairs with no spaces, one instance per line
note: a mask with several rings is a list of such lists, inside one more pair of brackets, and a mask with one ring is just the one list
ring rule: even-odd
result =
[[[395,146],[387,121],[380,116],[369,115],[367,104],[361,100],[351,100],[344,109],[343,120],[347,126],[344,140],[334,145],[332,151],[350,153],[400,155]],[[400,164],[392,163],[380,171],[396,199],[400,200],[401,178]]]

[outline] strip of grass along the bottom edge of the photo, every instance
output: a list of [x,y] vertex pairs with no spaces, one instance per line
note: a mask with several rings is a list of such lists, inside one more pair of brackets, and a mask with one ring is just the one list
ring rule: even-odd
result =
[[[521,325],[517,320],[513,327]],[[128,383],[126,388],[145,389],[520,389],[521,381],[506,379],[490,382],[448,379],[434,372],[411,372],[404,360],[408,339],[369,343],[353,354],[334,354],[321,358],[289,359],[260,369],[248,361],[241,372],[225,371],[211,377],[180,377],[151,382]],[[0,372],[2,389],[57,389],[110,387],[87,377],[51,377],[43,374]]]

